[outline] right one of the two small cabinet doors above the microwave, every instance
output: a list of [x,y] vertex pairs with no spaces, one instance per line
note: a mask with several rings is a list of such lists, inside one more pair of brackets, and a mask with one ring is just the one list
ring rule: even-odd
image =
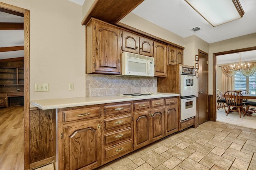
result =
[[140,37],[140,54],[153,57],[153,40]]

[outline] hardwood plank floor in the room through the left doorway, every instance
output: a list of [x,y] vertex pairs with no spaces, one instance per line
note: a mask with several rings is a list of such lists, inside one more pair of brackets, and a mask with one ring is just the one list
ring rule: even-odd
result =
[[24,169],[24,107],[0,109],[0,170]]

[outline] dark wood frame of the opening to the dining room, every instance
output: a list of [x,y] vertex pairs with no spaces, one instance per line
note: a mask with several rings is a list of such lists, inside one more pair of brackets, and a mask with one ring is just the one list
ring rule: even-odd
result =
[[231,53],[239,53],[239,52],[244,52],[244,51],[251,51],[251,50],[256,50],[256,46],[254,47],[247,47],[247,48],[241,48],[241,49],[234,49],[234,50],[230,50],[230,51],[222,51],[222,52],[218,52],[218,53],[213,53],[212,54],[212,84],[213,84],[213,89],[212,89],[212,115],[210,117],[210,121],[216,121],[217,119],[217,112],[216,112],[216,81],[217,81],[217,63],[216,63],[216,56],[218,55],[224,55],[224,54],[231,54]]

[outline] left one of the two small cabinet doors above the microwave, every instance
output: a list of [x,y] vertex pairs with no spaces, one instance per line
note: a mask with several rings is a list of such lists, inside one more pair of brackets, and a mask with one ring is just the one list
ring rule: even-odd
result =
[[122,50],[138,54],[139,53],[139,36],[123,31]]

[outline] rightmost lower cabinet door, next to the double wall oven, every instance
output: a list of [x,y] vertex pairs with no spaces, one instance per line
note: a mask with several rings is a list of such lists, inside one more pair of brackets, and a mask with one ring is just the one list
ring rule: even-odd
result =
[[178,131],[178,106],[166,107],[165,112],[165,135],[168,136]]

